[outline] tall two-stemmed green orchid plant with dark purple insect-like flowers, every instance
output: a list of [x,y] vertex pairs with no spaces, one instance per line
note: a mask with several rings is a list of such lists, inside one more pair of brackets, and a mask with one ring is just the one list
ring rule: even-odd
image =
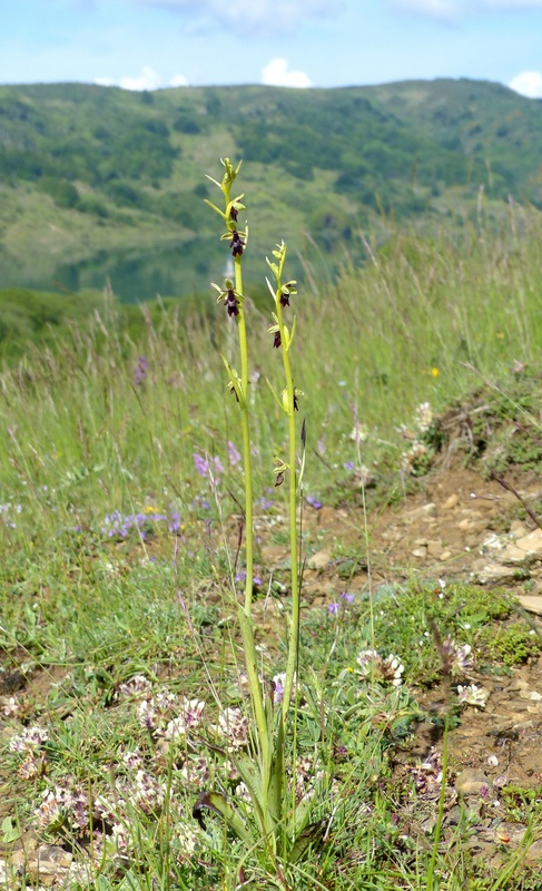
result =
[[[285,744],[289,740],[295,721],[296,675],[299,656],[299,596],[300,574],[298,556],[298,529],[296,507],[299,499],[304,456],[305,423],[300,431],[300,454],[298,454],[296,412],[298,400],[303,395],[294,383],[292,370],[292,346],[295,340],[296,319],[292,324],[287,321],[290,297],[296,291],[296,282],[288,280],[284,273],[286,245],[280,243],[267,258],[269,277],[266,278],[273,298],[273,324],[268,332],[273,334],[273,347],[282,352],[284,386],[278,392],[268,382],[273,396],[284,414],[288,431],[288,452],[278,456],[274,463],[275,486],[287,479],[289,548],[290,548],[290,589],[292,609],[289,613],[288,647],[286,672],[280,682],[262,681],[256,657],[255,621],[253,617],[254,590],[254,522],[253,522],[253,470],[250,450],[250,403],[248,399],[249,353],[247,339],[247,300],[243,286],[243,258],[248,244],[248,226],[239,227],[239,215],[246,209],[244,195],[233,195],[233,186],[239,173],[228,158],[221,160],[224,177],[221,182],[208,177],[220,190],[224,209],[210,200],[206,203],[220,217],[224,232],[221,239],[228,243],[234,260],[234,281],[226,278],[223,285],[213,284],[218,292],[218,303],[223,303],[229,319],[236,323],[239,344],[239,371],[223,356],[228,383],[227,389],[235,395],[240,413],[240,431],[243,440],[243,463],[245,484],[245,596],[236,609],[243,639],[246,674],[250,698],[250,734],[252,744],[245,751],[228,753],[245,783],[250,797],[250,814],[247,816],[236,804],[218,792],[203,792],[194,807],[194,816],[205,826],[203,812],[210,810],[219,813],[228,828],[245,843],[244,861],[238,864],[238,877],[245,874],[245,860],[252,851],[263,855],[265,869],[273,884],[287,889],[288,868],[297,862],[308,850],[313,841],[321,834],[321,825],[309,824],[312,801],[305,796],[296,801],[295,782],[288,787],[285,765]],[[234,596],[235,588],[233,587]],[[255,829],[256,834],[250,831]],[[255,841],[256,839],[256,841]],[[262,860],[262,856],[259,858]],[[242,879],[242,881],[244,881]]]

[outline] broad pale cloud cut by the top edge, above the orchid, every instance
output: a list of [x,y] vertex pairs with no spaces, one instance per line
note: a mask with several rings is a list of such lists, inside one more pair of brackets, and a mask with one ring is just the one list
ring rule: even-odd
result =
[[306,19],[336,16],[345,0],[131,0],[138,6],[154,6],[186,13],[207,28],[217,25],[239,31],[268,33],[292,31]]

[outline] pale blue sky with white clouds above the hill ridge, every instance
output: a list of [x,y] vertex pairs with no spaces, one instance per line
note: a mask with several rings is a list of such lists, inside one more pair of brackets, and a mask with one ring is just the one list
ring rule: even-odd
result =
[[436,77],[542,98],[542,0],[0,0],[0,84],[300,89]]

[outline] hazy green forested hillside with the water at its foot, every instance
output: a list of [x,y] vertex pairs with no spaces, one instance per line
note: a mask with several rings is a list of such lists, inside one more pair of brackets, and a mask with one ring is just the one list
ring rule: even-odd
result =
[[220,256],[201,199],[225,155],[244,158],[263,252],[308,233],[333,257],[383,213],[453,218],[481,186],[490,205],[542,207],[542,104],[495,84],[0,87],[0,271],[50,277],[160,246],[193,287]]

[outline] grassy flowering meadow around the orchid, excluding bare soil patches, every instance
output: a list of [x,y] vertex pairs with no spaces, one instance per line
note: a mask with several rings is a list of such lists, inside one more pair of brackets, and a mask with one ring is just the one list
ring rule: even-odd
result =
[[[453,768],[446,735],[465,709],[483,707],[480,689],[467,686],[473,660],[507,670],[486,629],[515,615],[512,595],[414,567],[401,579],[390,567],[386,585],[371,575],[377,517],[390,506],[405,510],[431,473],[445,472],[435,462],[450,407],[483,392],[493,399],[495,467],[538,464],[542,223],[514,203],[500,218],[500,228],[485,226],[481,203],[461,237],[397,228],[378,248],[356,235],[336,278],[306,264],[292,295],[305,443],[302,578],[322,547],[323,511],[342,511],[356,544],[341,587],[329,584],[319,603],[304,603],[302,584],[282,782],[303,819],[288,861],[258,835],[239,770],[255,757],[257,735],[233,593],[242,598],[246,581],[245,477],[238,400],[220,353],[237,362],[235,316],[214,296],[127,311],[106,292],[82,313],[72,301],[71,322],[66,297],[31,337],[16,320],[17,349],[16,321],[7,326],[0,887],[539,887],[536,869],[523,863],[541,823],[526,793],[506,812],[525,824],[525,841],[497,870],[471,854],[466,807],[451,828],[443,823]],[[250,278],[260,270],[264,281],[264,256],[252,255],[250,243],[244,261]],[[276,559],[288,542],[287,495],[275,484],[287,438],[266,383],[279,390],[264,294],[244,304],[254,356],[253,621],[273,712],[292,566]],[[2,298],[10,304],[8,292]],[[35,300],[35,319],[42,304],[51,311],[52,301]],[[521,427],[513,440],[511,423]],[[456,456],[482,473],[480,459]],[[333,549],[344,557],[339,538]],[[533,644],[521,658],[536,654]],[[438,685],[449,691],[445,714],[427,714],[422,694]],[[422,722],[437,745],[397,779],[394,765],[407,757],[397,753]],[[208,790],[234,802],[240,828],[215,800],[205,814],[194,811]]]

